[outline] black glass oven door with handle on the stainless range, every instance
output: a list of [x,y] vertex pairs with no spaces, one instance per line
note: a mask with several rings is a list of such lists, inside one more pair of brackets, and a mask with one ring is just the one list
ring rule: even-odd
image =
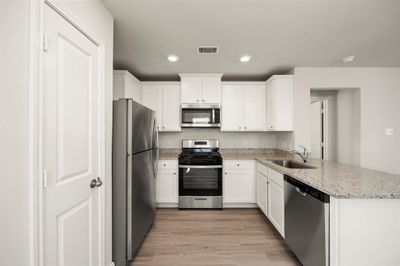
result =
[[179,165],[179,196],[222,196],[222,165]]

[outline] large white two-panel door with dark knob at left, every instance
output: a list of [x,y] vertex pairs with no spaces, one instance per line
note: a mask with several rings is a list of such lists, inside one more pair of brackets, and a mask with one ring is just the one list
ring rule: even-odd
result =
[[45,5],[44,265],[101,265],[99,49]]

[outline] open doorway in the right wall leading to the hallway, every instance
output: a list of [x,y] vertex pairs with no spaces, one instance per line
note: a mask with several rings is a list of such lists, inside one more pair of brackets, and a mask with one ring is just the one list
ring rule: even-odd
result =
[[311,89],[311,157],[360,165],[360,89]]

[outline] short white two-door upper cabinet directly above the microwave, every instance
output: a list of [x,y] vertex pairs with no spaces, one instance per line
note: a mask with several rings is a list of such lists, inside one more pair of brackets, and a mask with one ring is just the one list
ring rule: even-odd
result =
[[181,103],[221,104],[222,74],[179,74]]

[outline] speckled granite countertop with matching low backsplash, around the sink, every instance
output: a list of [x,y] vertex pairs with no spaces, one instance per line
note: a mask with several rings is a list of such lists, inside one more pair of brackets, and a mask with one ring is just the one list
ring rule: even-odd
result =
[[[160,159],[176,160],[180,152],[180,149],[160,149]],[[293,159],[293,156],[277,149],[221,149],[220,152],[224,160],[256,160],[335,198],[400,199],[400,175],[315,159],[310,162],[314,169],[285,168],[271,160]]]

